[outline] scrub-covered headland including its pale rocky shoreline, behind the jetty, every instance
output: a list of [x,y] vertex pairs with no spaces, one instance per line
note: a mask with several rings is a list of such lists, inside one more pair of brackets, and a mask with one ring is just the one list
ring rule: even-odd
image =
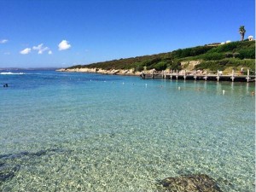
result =
[[255,74],[255,40],[205,44],[155,55],[143,55],[89,65],[61,68],[61,72],[141,75],[153,71],[221,72],[231,74],[241,70]]

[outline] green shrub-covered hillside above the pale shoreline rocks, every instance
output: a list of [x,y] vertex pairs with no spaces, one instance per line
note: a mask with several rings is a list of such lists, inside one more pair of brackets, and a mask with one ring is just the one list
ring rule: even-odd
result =
[[195,69],[208,69],[210,71],[225,70],[240,67],[255,71],[255,41],[237,41],[229,44],[208,44],[187,49],[177,49],[172,52],[156,55],[143,55],[113,61],[79,65],[70,68],[102,68],[102,69],[131,69],[143,71],[143,69],[156,69],[157,71],[167,68],[181,70],[186,67],[183,61],[200,61]]

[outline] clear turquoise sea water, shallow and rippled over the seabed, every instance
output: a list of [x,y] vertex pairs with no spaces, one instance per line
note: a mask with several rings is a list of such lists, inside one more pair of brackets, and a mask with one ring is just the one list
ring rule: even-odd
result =
[[254,191],[255,84],[53,71],[5,83],[0,191],[156,191],[197,173]]

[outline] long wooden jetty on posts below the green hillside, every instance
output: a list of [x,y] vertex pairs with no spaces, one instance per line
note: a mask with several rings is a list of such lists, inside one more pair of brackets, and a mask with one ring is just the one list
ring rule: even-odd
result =
[[239,82],[255,82],[255,72],[247,69],[247,72],[235,71],[224,72],[224,71],[155,71],[152,70],[149,73],[142,72],[142,79],[190,79],[190,80],[212,80],[212,81],[239,81]]

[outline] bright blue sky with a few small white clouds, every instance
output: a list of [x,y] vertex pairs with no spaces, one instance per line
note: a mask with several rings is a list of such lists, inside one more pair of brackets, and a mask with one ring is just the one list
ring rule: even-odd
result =
[[254,0],[0,0],[1,67],[69,67],[255,37]]

